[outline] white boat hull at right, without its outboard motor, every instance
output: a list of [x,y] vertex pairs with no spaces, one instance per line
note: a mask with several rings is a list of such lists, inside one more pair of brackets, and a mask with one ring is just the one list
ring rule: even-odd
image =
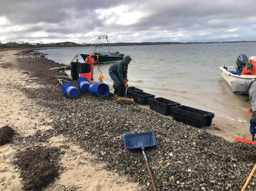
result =
[[219,66],[220,76],[231,89],[231,82],[235,80],[247,81],[256,78],[255,75],[242,75],[242,71],[237,66]]

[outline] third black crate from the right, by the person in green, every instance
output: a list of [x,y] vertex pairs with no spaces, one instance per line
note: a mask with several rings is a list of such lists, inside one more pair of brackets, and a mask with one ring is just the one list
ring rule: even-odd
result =
[[154,98],[154,95],[145,93],[144,91],[129,91],[129,93],[127,92],[127,98],[133,98],[134,102],[140,105],[149,105],[148,98]]

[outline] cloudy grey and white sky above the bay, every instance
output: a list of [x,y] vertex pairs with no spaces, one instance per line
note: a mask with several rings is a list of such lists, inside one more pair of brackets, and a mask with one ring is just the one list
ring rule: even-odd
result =
[[0,42],[255,41],[255,0],[0,0]]

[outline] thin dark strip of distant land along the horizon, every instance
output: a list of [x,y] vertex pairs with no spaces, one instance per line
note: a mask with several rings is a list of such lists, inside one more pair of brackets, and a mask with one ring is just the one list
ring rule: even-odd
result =
[[[172,45],[172,44],[198,44],[198,43],[255,43],[256,41],[212,41],[212,42],[142,42],[142,43],[109,43],[110,46],[153,46],[153,45]],[[102,46],[108,46],[107,43],[102,43]],[[72,47],[89,47],[92,43],[0,43],[0,51],[6,49],[21,49],[21,48],[72,48]]]

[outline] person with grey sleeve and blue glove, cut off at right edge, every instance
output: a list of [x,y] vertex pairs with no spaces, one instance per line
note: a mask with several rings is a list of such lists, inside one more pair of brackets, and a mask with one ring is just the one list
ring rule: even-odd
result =
[[252,141],[255,140],[256,133],[256,78],[249,81],[232,81],[232,92],[249,94],[250,103],[252,105],[252,117],[250,118],[250,133]]

